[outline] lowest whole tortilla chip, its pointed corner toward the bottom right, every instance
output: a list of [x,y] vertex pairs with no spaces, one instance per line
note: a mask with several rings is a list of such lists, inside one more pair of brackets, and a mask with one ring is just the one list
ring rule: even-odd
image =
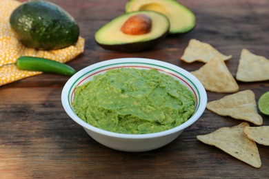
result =
[[259,168],[261,167],[261,158],[257,145],[243,133],[243,128],[248,126],[248,123],[243,122],[234,127],[222,127],[210,134],[199,135],[197,139],[218,147],[252,167]]

